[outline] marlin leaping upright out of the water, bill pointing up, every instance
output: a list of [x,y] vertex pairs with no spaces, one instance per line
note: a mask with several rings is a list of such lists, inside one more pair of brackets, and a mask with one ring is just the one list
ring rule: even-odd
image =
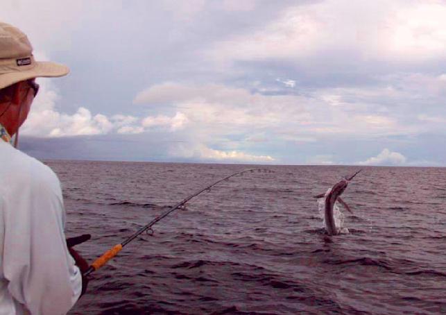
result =
[[362,170],[360,169],[350,176],[350,178],[343,178],[343,180],[334,185],[327,193],[314,196],[314,198],[325,197],[325,228],[327,228],[328,235],[338,235],[339,232],[341,232],[340,230],[336,229],[336,225],[334,224],[333,207],[336,201],[339,201],[339,203],[341,203],[345,209],[347,209],[350,213],[353,213],[347,203],[344,203],[344,201],[341,199],[341,194],[347,188],[350,180],[352,180],[354,176],[357,176],[360,171]]

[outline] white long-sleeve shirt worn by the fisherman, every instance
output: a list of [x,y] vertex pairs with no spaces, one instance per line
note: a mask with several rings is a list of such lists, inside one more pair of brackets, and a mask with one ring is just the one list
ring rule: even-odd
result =
[[0,315],[66,314],[82,279],[55,173],[0,140]]

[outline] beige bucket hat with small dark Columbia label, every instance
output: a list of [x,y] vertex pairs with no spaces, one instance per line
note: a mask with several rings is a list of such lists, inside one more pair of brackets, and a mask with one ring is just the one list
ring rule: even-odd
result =
[[35,61],[28,37],[10,24],[0,22],[0,89],[40,76],[68,74],[69,68],[49,61]]

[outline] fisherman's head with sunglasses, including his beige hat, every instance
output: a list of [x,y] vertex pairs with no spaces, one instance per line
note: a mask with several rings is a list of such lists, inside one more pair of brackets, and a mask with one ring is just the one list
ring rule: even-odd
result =
[[18,28],[0,22],[0,124],[15,135],[28,117],[37,77],[68,74],[65,65],[34,60],[33,46]]

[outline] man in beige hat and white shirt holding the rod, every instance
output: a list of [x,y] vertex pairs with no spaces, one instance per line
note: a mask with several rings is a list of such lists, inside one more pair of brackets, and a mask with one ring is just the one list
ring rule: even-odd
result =
[[32,51],[22,31],[0,22],[0,314],[65,314],[85,290],[87,263],[67,248],[57,176],[11,137],[17,142],[39,90],[35,78],[69,69]]

